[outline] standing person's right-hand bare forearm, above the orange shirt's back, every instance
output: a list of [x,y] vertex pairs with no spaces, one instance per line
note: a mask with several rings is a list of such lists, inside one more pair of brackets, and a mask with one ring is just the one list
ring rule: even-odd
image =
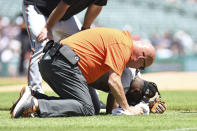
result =
[[102,10],[102,6],[98,6],[95,4],[92,4],[88,7],[84,17],[82,30],[90,28],[92,22],[96,19],[96,17],[99,15],[101,10]]

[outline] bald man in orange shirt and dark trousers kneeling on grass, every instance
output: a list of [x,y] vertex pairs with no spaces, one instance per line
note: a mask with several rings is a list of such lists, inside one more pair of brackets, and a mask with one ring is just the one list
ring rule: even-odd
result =
[[[28,117],[37,110],[40,117],[94,115],[87,83],[94,82],[106,72],[109,72],[110,90],[122,109],[130,115],[143,113],[141,108],[129,107],[121,75],[125,67],[139,69],[153,63],[155,49],[150,43],[133,42],[128,31],[110,28],[81,31],[60,43],[64,46],[53,53],[57,47],[54,44],[39,64],[43,79],[60,98],[50,99],[45,96],[45,99],[36,99],[28,93],[30,89],[26,87],[27,98],[19,100],[18,103],[22,104],[16,105],[12,117]],[[80,58],[78,64],[75,62],[77,57]],[[23,99],[29,101],[24,102]]]

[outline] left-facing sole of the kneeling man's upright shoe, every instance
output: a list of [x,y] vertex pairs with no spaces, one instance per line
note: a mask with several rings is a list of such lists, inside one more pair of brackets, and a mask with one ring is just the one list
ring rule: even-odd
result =
[[27,91],[26,88],[29,88],[29,87],[24,87],[24,89],[21,90],[22,96],[20,95],[21,97],[18,100],[17,104],[15,105],[15,108],[13,109],[13,112],[11,114],[11,118],[18,118],[18,117],[20,117],[22,112],[20,113],[20,112],[17,112],[17,111],[19,110],[21,105],[23,105],[23,103],[25,103],[25,101],[27,100],[27,98],[29,96],[28,94],[25,94],[25,92]]

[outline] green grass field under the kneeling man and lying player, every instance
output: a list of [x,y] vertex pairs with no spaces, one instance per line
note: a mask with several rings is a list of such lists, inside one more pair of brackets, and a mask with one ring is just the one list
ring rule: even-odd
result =
[[[0,92],[0,130],[197,131],[197,91],[162,91],[161,94],[168,108],[161,115],[11,119],[9,111],[4,109],[11,106],[18,92]],[[99,92],[99,97],[105,102],[105,93]]]

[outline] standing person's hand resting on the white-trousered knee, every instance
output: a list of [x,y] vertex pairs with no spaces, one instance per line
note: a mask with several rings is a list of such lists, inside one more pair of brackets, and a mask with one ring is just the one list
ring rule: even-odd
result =
[[42,42],[44,40],[52,40],[53,39],[53,35],[52,35],[52,31],[47,29],[46,27],[42,28],[40,34],[37,36],[37,40],[38,42]]

